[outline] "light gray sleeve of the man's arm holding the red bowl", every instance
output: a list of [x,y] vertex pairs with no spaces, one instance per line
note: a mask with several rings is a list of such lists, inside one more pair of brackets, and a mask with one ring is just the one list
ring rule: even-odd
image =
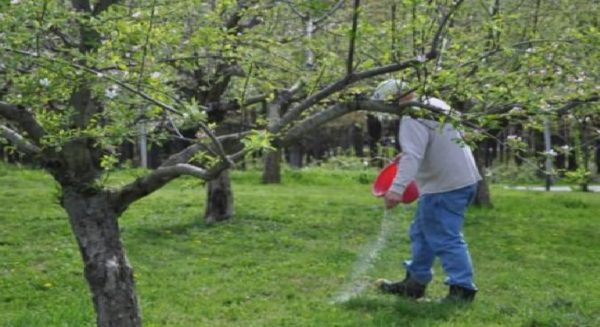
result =
[[400,122],[399,139],[402,157],[390,191],[402,194],[419,171],[429,142],[429,129],[416,119],[404,117]]

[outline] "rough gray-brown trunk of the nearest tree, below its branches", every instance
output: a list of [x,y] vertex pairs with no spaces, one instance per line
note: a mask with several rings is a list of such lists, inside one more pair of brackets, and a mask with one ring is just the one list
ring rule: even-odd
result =
[[100,327],[141,326],[133,270],[119,235],[117,213],[105,192],[84,195],[63,189],[62,206],[83,258]]

